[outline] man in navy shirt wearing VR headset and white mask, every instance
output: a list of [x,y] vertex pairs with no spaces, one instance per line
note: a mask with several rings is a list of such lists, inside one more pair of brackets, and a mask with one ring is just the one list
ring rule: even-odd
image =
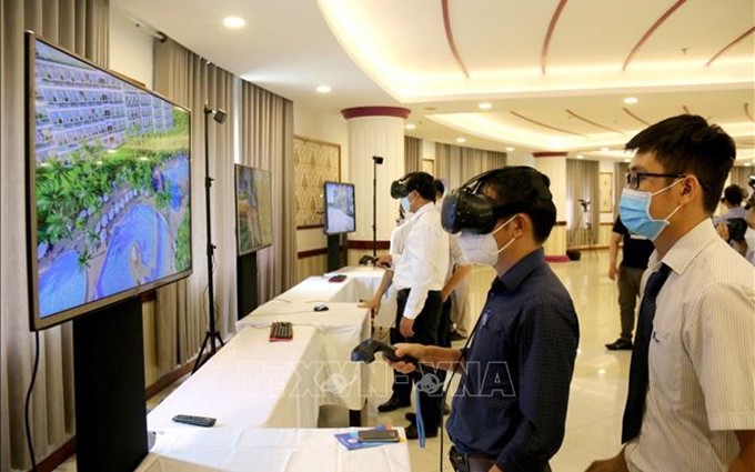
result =
[[548,185],[535,169],[512,167],[446,195],[443,228],[461,232],[466,259],[497,277],[469,349],[396,345],[397,355],[463,372],[446,424],[456,471],[550,471],[564,438],[580,329],[543,252],[556,217]]

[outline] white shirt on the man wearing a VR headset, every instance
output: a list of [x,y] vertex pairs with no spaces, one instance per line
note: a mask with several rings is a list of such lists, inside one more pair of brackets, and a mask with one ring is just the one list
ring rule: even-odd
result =
[[411,289],[404,317],[415,319],[431,290],[441,290],[449,270],[449,234],[441,228],[441,214],[432,203],[424,204],[409,218],[404,250],[393,257],[393,284],[396,290]]

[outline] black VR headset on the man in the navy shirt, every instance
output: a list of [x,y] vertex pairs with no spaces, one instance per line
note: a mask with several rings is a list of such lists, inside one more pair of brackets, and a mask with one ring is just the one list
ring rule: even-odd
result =
[[[540,179],[533,179],[532,191],[526,199],[520,202],[499,205],[490,197],[477,193],[483,182],[489,181],[490,177],[497,173],[527,172],[536,174]],[[459,189],[453,190],[443,199],[441,210],[441,224],[443,229],[452,234],[460,231],[486,234],[493,231],[500,218],[526,212],[532,208],[532,203],[537,199],[552,199],[548,190],[550,181],[547,177],[537,172],[535,169],[517,165],[501,168],[483,172],[472,178]]]

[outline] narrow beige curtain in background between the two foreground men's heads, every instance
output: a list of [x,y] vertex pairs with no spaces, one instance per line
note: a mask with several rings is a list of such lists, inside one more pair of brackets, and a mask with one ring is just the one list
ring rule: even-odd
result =
[[[566,229],[568,232],[566,245],[568,248],[597,244],[601,222],[597,173],[597,162],[566,160]],[[590,214],[583,211],[580,199],[590,201]]]

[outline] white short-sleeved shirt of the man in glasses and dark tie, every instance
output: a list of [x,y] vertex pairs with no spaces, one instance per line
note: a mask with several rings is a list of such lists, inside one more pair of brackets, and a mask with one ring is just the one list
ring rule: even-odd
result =
[[663,258],[673,272],[656,300],[650,388],[632,472],[726,471],[735,430],[755,430],[755,268],[706,219]]

